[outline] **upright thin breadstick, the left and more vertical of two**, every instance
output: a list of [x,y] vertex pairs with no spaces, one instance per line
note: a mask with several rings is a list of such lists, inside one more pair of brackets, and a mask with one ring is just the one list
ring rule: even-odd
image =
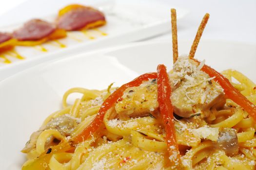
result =
[[173,9],[173,8],[171,9],[171,18],[172,18],[172,37],[173,37],[173,63],[175,63],[178,58],[176,9]]

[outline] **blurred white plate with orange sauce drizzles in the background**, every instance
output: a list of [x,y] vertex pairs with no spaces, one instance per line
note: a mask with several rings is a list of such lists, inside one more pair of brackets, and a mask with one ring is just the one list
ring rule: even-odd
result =
[[[64,6],[65,4],[63,4]],[[81,49],[82,51],[91,51],[96,48],[138,41],[167,33],[170,31],[170,8],[174,8],[174,6],[152,0],[140,0],[139,2],[137,0],[108,0],[93,6],[105,14],[107,20],[105,26],[87,31],[68,32],[66,38],[57,41],[46,42],[35,47],[18,46],[15,51],[1,53],[0,80],[22,69],[63,57],[70,51],[72,54],[79,53]],[[178,19],[188,13],[187,10],[176,8]],[[58,10],[56,9],[52,15],[42,17],[42,19],[54,22]],[[25,21],[1,27],[0,31],[12,32]]]

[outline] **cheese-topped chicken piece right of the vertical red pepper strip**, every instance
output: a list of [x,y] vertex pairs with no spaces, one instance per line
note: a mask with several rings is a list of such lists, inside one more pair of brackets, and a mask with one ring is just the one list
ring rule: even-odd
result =
[[209,117],[211,107],[223,107],[226,102],[222,87],[199,67],[187,56],[181,56],[169,75],[174,112],[180,117]]

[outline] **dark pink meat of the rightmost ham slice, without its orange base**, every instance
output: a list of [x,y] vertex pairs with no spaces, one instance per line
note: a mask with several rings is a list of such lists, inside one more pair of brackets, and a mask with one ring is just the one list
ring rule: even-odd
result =
[[61,29],[74,31],[97,21],[105,21],[105,17],[101,12],[90,7],[81,6],[59,16],[57,25]]

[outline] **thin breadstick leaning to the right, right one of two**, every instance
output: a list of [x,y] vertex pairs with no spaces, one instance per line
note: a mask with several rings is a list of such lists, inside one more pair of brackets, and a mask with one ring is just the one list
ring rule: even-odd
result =
[[198,30],[197,30],[197,35],[194,39],[194,42],[191,46],[191,50],[189,52],[189,57],[193,58],[195,56],[195,53],[196,53],[196,50],[197,50],[197,46],[198,46],[198,43],[200,41],[200,38],[203,34],[203,30],[205,28],[205,25],[207,24],[207,21],[209,19],[210,15],[208,13],[206,13],[201,21],[201,24],[200,26],[198,27]]

